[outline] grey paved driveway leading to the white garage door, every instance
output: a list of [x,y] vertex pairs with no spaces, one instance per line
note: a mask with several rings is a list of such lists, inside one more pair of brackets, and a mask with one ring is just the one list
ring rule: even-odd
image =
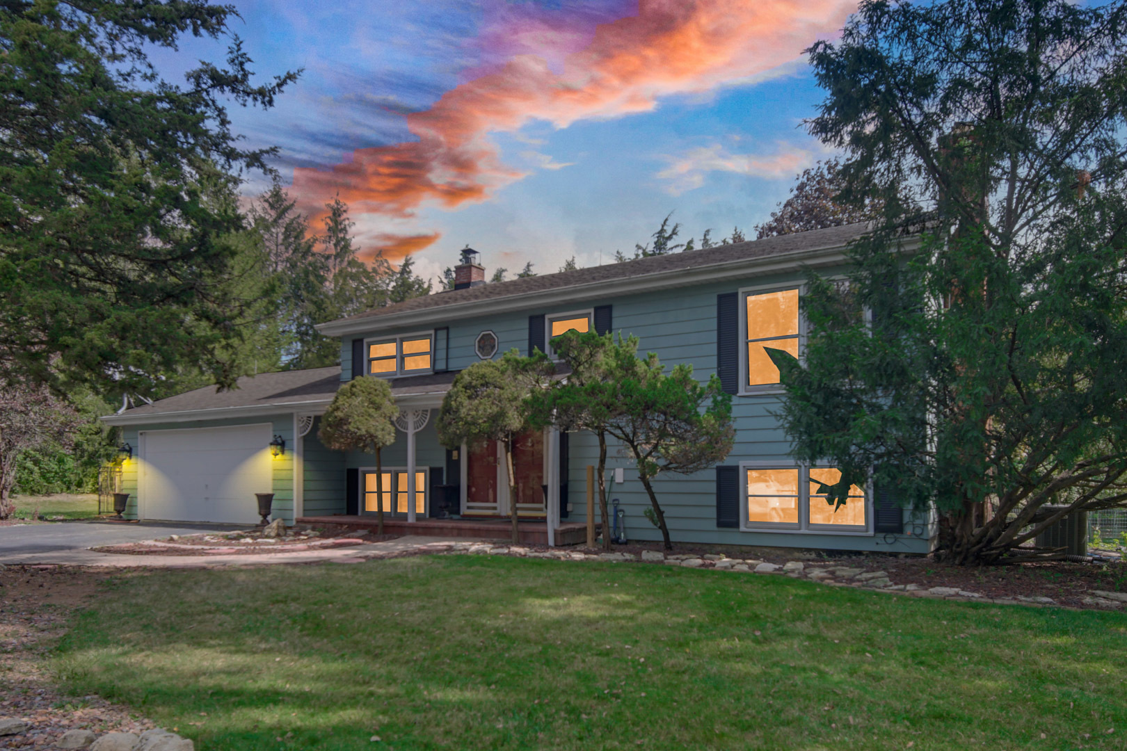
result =
[[[230,527],[227,527],[228,529]],[[0,563],[38,563],[44,554],[82,551],[96,545],[136,543],[169,535],[215,530],[213,525],[113,524],[65,521],[0,527]],[[53,556],[51,556],[53,557]]]

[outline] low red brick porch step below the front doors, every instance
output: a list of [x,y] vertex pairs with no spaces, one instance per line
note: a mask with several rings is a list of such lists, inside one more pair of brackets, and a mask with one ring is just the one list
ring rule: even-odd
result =
[[[335,513],[320,517],[298,517],[296,524],[335,525],[348,529],[376,529],[370,516]],[[526,545],[547,545],[548,525],[543,521],[521,521],[516,526],[521,542]],[[431,537],[480,537],[483,539],[512,539],[513,527],[508,519],[384,519],[387,535],[426,535]],[[556,528],[557,545],[582,545],[587,542],[587,525],[567,521]]]

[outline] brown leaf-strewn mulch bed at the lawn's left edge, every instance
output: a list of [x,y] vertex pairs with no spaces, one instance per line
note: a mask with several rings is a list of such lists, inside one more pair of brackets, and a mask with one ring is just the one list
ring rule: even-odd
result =
[[0,739],[0,748],[52,748],[74,728],[100,735],[140,734],[154,726],[100,697],[62,694],[47,669],[47,655],[65,633],[68,619],[106,573],[77,566],[0,566],[0,717],[30,725],[26,733]]

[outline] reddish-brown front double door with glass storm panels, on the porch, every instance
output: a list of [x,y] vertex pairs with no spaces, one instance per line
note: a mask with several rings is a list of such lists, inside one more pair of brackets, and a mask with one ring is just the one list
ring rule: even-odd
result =
[[[548,476],[544,465],[544,432],[531,430],[513,441],[512,497],[522,517],[543,517],[547,509]],[[479,441],[467,447],[465,515],[507,516],[511,494],[507,492],[505,447],[499,441]]]

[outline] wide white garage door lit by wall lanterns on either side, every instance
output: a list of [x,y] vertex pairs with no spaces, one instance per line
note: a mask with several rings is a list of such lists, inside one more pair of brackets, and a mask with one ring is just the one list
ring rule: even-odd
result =
[[258,521],[255,493],[273,491],[272,426],[141,433],[141,516],[169,521]]

